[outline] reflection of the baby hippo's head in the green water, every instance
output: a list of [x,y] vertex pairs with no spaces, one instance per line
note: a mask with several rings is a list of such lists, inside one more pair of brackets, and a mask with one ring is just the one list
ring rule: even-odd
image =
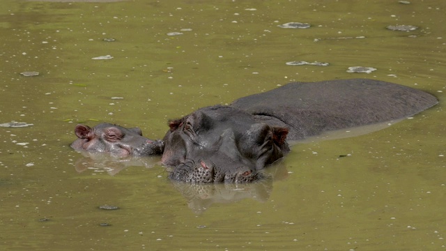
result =
[[75,162],[77,172],[84,172],[86,169],[93,169],[98,172],[105,170],[107,174],[114,176],[121,172],[125,167],[146,167],[151,168],[160,162],[159,156],[134,157],[125,158],[110,155],[109,153],[89,153],[81,151],[83,158]]

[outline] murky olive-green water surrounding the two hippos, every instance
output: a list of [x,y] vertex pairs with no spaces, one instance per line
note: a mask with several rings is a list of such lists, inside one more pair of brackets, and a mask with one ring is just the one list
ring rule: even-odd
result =
[[[33,126],[0,128],[1,250],[446,249],[446,2],[411,2],[2,1],[0,123]],[[288,22],[311,27],[278,26]],[[252,185],[171,183],[159,158],[112,170],[68,147],[76,123],[161,138],[167,119],[199,107],[351,77],[440,104],[368,135],[296,144],[268,169],[274,181]]]

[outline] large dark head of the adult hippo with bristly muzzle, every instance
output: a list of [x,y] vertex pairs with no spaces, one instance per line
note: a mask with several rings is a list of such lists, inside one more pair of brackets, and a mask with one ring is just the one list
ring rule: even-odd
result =
[[258,123],[240,109],[205,107],[169,122],[162,163],[170,178],[191,183],[242,183],[289,151],[287,128]]

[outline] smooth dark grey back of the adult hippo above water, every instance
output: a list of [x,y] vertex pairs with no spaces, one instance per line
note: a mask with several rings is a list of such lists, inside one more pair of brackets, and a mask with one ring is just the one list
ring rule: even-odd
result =
[[296,82],[235,100],[231,106],[272,126],[287,126],[288,139],[411,116],[438,100],[429,93],[373,79]]

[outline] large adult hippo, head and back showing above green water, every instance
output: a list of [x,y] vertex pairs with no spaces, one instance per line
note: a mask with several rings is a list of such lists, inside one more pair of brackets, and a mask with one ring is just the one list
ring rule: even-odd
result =
[[371,79],[286,84],[170,121],[162,163],[174,167],[176,181],[256,181],[289,151],[286,139],[402,119],[437,103],[424,91]]

